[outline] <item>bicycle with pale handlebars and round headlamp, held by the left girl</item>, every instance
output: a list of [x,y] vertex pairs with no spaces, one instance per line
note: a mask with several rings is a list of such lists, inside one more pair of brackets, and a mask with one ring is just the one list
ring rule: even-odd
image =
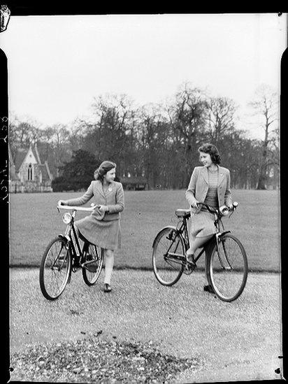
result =
[[[98,280],[103,266],[104,250],[89,243],[75,230],[77,211],[94,211],[95,204],[89,207],[57,206],[68,209],[62,219],[66,226],[64,234],[59,234],[50,241],[43,254],[39,272],[39,283],[43,296],[48,300],[57,299],[71,281],[72,272],[82,269],[82,277],[87,285],[94,285]],[[80,246],[80,239],[84,241]]]

